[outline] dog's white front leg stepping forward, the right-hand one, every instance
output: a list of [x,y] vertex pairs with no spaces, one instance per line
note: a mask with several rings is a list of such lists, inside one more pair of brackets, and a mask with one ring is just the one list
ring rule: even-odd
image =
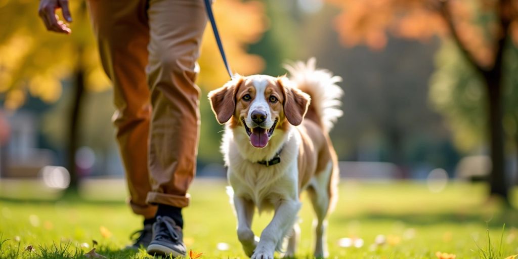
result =
[[293,227],[299,209],[300,202],[297,199],[280,200],[274,218],[261,233],[261,239],[251,259],[274,259],[274,252],[282,246],[284,236]]

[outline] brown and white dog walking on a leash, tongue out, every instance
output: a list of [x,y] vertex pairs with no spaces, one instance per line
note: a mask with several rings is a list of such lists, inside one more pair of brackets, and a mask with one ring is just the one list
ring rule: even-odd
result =
[[[219,123],[226,123],[222,152],[237,235],[251,258],[295,254],[300,193],[308,192],[316,214],[314,255],[327,257],[326,215],[337,199],[337,157],[328,132],[342,112],[340,77],[315,69],[315,60],[286,66],[291,77],[236,76],[209,93]],[[310,104],[311,102],[311,104]],[[261,233],[251,229],[258,211],[275,210]]]

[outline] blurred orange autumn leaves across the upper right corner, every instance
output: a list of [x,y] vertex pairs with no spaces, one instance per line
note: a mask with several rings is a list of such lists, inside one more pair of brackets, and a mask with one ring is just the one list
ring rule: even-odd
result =
[[[335,28],[344,46],[365,44],[371,49],[385,47],[389,34],[417,40],[433,36],[451,35],[447,19],[451,19],[459,39],[472,53],[480,66],[491,66],[495,42],[501,35],[498,20],[492,15],[497,11],[496,0],[327,0],[341,12],[335,20]],[[447,9],[446,15],[444,13]],[[511,0],[502,7],[501,15],[514,17],[510,33],[518,44],[518,1]]]

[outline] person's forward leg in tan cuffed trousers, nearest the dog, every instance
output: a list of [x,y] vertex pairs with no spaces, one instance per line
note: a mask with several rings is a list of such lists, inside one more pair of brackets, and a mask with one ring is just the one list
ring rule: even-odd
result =
[[[194,81],[207,18],[203,0],[150,0],[148,17],[153,111],[149,150],[152,191],[147,200],[159,205],[157,219],[171,218],[181,232],[181,208],[189,205],[187,191],[196,170],[199,88]],[[170,221],[160,222],[165,226]],[[157,250],[154,241],[148,247],[150,253],[185,253],[184,247],[173,252]]]

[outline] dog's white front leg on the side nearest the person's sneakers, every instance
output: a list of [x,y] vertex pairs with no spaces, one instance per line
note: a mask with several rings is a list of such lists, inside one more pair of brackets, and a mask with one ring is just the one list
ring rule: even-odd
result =
[[237,238],[243,246],[244,253],[250,257],[257,246],[258,240],[251,228],[254,205],[247,199],[234,196],[234,207],[236,208],[237,216]]

